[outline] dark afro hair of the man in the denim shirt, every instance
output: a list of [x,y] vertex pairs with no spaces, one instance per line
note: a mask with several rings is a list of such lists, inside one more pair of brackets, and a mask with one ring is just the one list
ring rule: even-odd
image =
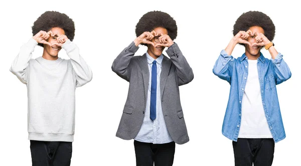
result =
[[[264,35],[272,41],[275,36],[275,25],[271,18],[260,11],[248,11],[241,14],[234,26],[233,35],[236,35],[240,30],[247,31],[251,26],[260,26],[264,30]],[[244,45],[242,43],[239,43]]]

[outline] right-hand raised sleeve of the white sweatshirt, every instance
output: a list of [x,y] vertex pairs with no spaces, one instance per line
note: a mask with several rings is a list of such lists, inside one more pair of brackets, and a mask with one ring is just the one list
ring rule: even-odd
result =
[[88,83],[92,79],[91,68],[87,65],[86,61],[80,56],[78,47],[68,39],[63,45],[70,57],[71,65],[75,71],[76,87]]

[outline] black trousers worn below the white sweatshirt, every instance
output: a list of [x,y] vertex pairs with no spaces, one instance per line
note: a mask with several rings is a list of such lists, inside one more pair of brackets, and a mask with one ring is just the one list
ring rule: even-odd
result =
[[30,140],[33,166],[69,166],[72,142]]

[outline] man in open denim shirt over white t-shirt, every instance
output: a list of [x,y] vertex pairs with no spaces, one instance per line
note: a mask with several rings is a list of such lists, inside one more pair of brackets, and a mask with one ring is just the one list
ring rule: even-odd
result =
[[[213,68],[231,85],[222,133],[233,140],[235,165],[271,165],[274,143],[285,138],[276,84],[290,78],[291,72],[271,42],[275,26],[266,14],[243,13],[233,35]],[[245,47],[238,58],[231,55],[236,44]],[[263,47],[271,59],[262,55]]]

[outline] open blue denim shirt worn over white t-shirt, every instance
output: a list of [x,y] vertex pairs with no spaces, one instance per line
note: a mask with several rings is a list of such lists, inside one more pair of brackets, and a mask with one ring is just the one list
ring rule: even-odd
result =
[[[260,52],[257,59],[262,105],[275,142],[285,138],[276,84],[291,76],[289,67],[282,56],[278,53],[275,59],[267,59]],[[222,50],[213,67],[213,73],[227,80],[231,85],[222,133],[227,138],[237,141],[241,122],[241,101],[248,77],[248,58],[244,53],[236,59]]]

